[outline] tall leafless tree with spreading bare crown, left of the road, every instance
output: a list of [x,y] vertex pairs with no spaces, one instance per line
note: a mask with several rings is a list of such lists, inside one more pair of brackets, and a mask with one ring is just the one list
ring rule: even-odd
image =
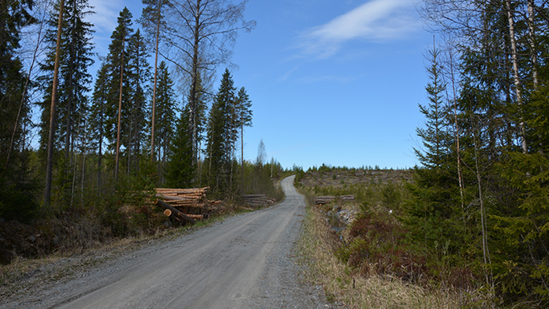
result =
[[249,32],[255,27],[255,21],[244,20],[246,3],[247,0],[236,4],[230,0],[177,0],[170,3],[166,13],[170,31],[164,56],[176,65],[191,89],[189,130],[194,164],[198,157],[198,73],[215,71],[218,65],[230,62],[239,32]]

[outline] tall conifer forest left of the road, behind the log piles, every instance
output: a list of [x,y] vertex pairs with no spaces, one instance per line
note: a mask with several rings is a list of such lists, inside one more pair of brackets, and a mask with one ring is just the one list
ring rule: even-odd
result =
[[88,0],[1,0],[2,222],[89,218],[123,236],[139,223],[116,209],[135,192],[280,194],[281,166],[263,141],[243,160],[252,100],[229,68],[238,34],[255,27],[245,7],[143,0],[139,16],[119,12],[108,54],[97,55]]

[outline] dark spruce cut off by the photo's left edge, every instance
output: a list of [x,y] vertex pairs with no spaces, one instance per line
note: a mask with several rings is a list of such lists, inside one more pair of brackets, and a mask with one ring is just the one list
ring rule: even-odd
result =
[[0,1],[0,217],[6,220],[30,219],[38,209],[38,184],[30,175],[26,146],[31,115],[23,96],[27,76],[17,54],[21,30],[34,23],[32,5]]

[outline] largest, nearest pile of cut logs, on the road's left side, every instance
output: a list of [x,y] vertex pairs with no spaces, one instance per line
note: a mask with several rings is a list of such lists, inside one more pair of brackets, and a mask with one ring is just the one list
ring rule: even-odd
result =
[[164,209],[164,214],[176,220],[194,223],[207,219],[213,211],[213,205],[221,201],[208,201],[206,192],[209,187],[192,189],[156,188],[155,205]]

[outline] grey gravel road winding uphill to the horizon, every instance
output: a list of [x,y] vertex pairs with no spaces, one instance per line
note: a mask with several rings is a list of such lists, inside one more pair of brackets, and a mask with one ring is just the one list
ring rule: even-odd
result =
[[279,205],[35,284],[0,307],[336,308],[322,287],[299,279],[294,244],[305,202],[293,181],[282,181]]

